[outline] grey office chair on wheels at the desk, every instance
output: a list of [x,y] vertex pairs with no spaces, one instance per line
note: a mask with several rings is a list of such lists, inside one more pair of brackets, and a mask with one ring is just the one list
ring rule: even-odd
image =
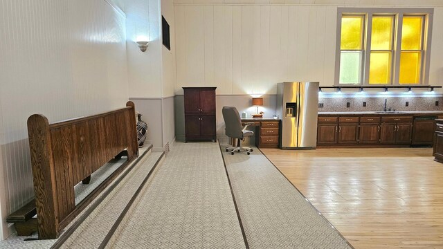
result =
[[248,155],[251,154],[251,151],[253,150],[250,147],[242,147],[240,145],[240,140],[254,134],[253,131],[246,130],[246,127],[254,122],[248,122],[245,127],[242,127],[242,120],[240,120],[240,115],[235,107],[223,107],[221,112],[223,113],[223,119],[226,125],[226,136],[238,139],[237,146],[227,147],[226,151],[230,151],[231,155],[234,154],[234,151],[240,150],[245,150]]

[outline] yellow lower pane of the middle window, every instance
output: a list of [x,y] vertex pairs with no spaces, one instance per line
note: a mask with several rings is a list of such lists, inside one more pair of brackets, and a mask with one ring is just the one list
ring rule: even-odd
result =
[[369,84],[390,84],[390,52],[372,52],[369,64]]

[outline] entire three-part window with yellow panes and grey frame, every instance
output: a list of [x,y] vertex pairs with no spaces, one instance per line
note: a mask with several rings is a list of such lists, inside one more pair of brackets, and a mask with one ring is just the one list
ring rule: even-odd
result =
[[338,9],[336,83],[428,84],[433,9],[358,10]]

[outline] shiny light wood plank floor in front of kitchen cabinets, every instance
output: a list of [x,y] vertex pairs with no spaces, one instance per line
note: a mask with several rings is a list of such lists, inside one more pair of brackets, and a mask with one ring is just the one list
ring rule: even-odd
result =
[[443,248],[432,149],[261,149],[355,248]]

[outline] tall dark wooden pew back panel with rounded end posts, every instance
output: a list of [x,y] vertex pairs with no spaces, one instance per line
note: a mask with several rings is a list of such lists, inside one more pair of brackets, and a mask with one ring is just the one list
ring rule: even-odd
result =
[[[55,239],[129,162],[138,157],[135,107],[49,124],[28,118],[39,239]],[[127,162],[75,205],[74,186],[127,149]]]

